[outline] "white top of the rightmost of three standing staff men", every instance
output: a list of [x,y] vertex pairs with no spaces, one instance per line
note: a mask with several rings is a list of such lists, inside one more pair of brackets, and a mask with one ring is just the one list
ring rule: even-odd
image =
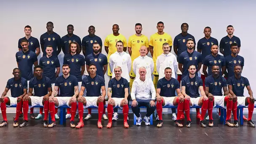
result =
[[158,80],[165,77],[165,68],[170,67],[172,69],[171,77],[176,79],[176,72],[178,70],[178,62],[176,56],[172,53],[164,54],[162,53],[157,57],[156,62],[157,72],[159,74]]

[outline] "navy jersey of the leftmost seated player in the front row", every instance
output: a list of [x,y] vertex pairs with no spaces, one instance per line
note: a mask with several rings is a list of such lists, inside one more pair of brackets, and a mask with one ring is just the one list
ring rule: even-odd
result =
[[21,77],[19,80],[14,80],[13,78],[10,78],[7,81],[6,87],[8,89],[11,89],[11,96],[16,98],[24,94],[24,89],[27,89],[27,80]]

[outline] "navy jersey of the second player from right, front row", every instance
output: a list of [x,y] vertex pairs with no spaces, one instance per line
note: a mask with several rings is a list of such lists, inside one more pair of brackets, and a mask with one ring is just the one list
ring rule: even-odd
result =
[[209,88],[209,93],[213,96],[222,96],[222,88],[227,87],[227,80],[224,77],[214,78],[213,75],[210,75],[205,78],[205,87]]

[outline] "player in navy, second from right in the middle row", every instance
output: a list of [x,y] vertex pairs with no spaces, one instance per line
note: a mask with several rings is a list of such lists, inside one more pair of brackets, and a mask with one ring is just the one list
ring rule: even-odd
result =
[[[217,64],[219,67],[221,67],[221,77],[224,74],[226,70],[226,62],[225,58],[218,54],[219,52],[219,46],[216,44],[213,44],[211,46],[211,54],[205,57],[203,62],[203,73],[205,77],[208,77],[209,75],[212,75],[211,69],[214,64]],[[206,69],[208,68],[208,72],[206,72]]]

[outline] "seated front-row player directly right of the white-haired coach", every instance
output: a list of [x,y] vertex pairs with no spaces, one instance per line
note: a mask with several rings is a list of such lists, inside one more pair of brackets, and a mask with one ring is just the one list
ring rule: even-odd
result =
[[[176,125],[182,127],[183,125],[180,123],[181,113],[184,110],[184,96],[181,93],[179,81],[173,77],[172,69],[170,67],[166,67],[164,70],[165,77],[161,78],[157,82],[157,117],[159,117],[159,121],[157,127],[160,128],[163,125],[162,111],[163,106],[177,106],[178,105],[178,117]],[[175,75],[175,73],[173,73]],[[175,96],[175,91],[178,96]]]

